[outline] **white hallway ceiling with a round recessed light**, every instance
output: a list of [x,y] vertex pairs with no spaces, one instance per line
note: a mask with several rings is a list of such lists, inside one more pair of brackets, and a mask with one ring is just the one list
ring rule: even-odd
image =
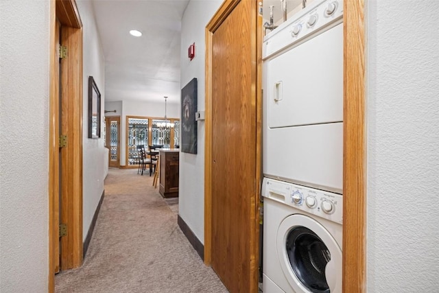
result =
[[[189,0],[93,0],[105,100],[180,101],[181,19]],[[142,36],[130,35],[139,30]]]

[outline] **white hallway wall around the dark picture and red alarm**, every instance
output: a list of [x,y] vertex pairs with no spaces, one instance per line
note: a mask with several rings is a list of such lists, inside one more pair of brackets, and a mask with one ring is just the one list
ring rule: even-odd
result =
[[[222,0],[189,2],[182,19],[181,87],[192,78],[198,82],[198,110],[204,110],[204,30]],[[187,48],[195,43],[195,58],[187,58]],[[178,213],[200,242],[204,243],[204,121],[198,121],[198,154],[180,152]]]

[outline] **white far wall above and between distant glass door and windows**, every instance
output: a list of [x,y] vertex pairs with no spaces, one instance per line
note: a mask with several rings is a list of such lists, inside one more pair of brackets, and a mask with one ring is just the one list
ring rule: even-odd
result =
[[[126,165],[126,117],[165,117],[165,98],[163,103],[147,103],[135,100],[106,102],[105,110],[116,110],[116,113],[106,113],[106,116],[121,117],[120,165]],[[180,104],[167,103],[167,119],[180,119]]]

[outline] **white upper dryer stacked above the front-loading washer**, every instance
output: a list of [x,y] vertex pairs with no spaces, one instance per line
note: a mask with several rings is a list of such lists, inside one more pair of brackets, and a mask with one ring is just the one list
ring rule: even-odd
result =
[[342,194],[343,1],[314,0],[263,40],[263,175]]

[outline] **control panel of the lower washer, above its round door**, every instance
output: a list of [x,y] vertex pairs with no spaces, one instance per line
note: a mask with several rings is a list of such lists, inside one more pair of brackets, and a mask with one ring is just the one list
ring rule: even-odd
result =
[[262,196],[287,204],[294,209],[343,223],[343,196],[341,194],[263,178]]

